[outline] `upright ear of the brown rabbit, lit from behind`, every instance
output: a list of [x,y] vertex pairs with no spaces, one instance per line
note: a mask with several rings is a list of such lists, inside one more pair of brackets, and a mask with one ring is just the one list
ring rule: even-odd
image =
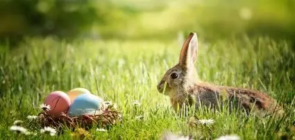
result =
[[185,69],[190,69],[194,66],[194,62],[196,62],[196,56],[198,51],[198,37],[196,37],[196,33],[189,33],[189,37],[185,40],[183,44],[183,49],[181,49],[179,64],[180,67]]

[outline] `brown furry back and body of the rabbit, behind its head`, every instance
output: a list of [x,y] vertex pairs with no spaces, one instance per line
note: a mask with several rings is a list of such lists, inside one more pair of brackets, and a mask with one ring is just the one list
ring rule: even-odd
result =
[[[200,105],[212,108],[223,107],[225,103],[228,103],[230,111],[235,108],[242,109],[247,114],[251,111],[259,113],[261,111],[264,111],[264,113],[283,113],[282,107],[276,103],[276,100],[273,100],[273,98],[261,91],[255,91],[253,89],[217,86],[200,82],[188,88],[187,97],[192,98],[192,96],[194,97],[196,108]],[[189,98],[187,103],[192,105],[192,101]]]

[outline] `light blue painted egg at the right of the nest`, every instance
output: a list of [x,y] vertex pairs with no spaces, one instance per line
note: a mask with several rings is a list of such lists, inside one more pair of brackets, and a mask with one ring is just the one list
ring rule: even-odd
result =
[[69,107],[69,116],[81,116],[98,112],[102,100],[93,94],[81,94]]

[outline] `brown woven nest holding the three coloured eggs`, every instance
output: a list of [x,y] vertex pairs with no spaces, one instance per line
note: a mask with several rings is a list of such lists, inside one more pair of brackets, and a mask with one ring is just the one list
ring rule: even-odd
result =
[[98,125],[99,128],[108,128],[121,121],[121,114],[115,107],[108,105],[108,107],[101,107],[101,110],[95,114],[83,114],[81,116],[71,117],[68,114],[61,114],[59,116],[51,116],[46,112],[41,112],[38,115],[40,125],[42,127],[62,128],[85,128],[86,130],[92,128],[93,125]]

